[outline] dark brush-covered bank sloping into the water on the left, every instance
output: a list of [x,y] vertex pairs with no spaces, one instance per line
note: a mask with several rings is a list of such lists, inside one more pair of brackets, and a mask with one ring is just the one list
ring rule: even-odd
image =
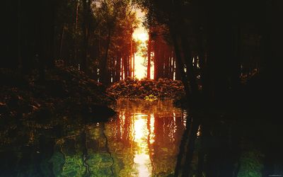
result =
[[[51,120],[89,117],[93,121],[115,112],[108,108],[114,98],[105,88],[72,67],[55,67],[40,81],[39,74],[23,75],[0,69],[0,117],[9,120]],[[3,124],[1,124],[3,125]]]

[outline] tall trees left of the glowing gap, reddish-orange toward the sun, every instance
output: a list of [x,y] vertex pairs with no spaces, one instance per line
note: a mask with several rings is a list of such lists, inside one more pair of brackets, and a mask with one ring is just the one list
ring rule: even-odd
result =
[[131,43],[139,21],[129,0],[9,1],[5,6],[5,23],[11,25],[4,30],[3,67],[24,74],[37,69],[44,80],[45,69],[63,60],[65,67],[109,84],[111,77],[120,79],[120,72],[113,71],[119,70],[120,60],[137,51],[138,43],[134,50]]

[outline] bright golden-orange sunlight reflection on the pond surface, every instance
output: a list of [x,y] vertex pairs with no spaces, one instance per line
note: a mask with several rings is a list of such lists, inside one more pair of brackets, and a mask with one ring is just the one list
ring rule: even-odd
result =
[[186,113],[172,101],[120,100],[116,110],[105,132],[117,176],[173,173]]

